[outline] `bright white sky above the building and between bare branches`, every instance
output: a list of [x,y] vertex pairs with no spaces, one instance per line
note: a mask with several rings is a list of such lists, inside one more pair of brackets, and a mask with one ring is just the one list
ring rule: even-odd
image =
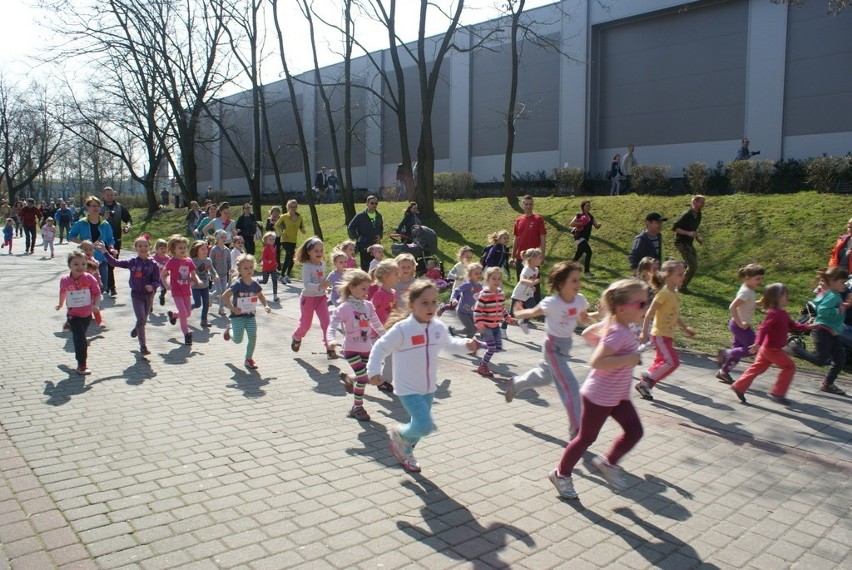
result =
[[[72,2],[83,2],[86,0],[70,0]],[[445,10],[450,10],[454,6],[451,0],[436,0],[438,4],[445,7]],[[494,5],[501,0],[467,0],[465,3],[465,16],[463,23],[472,24],[488,20],[497,15],[497,10]],[[503,0],[505,1],[505,0]],[[532,9],[538,6],[553,3],[553,0],[527,0],[526,9]],[[335,5],[336,0],[318,0],[317,6],[323,6],[323,9],[329,9],[334,14],[337,12]],[[409,29],[401,31],[400,34],[406,41],[416,37],[416,23],[418,18],[419,2],[415,0],[398,0],[398,10],[400,15],[397,22],[404,22],[409,25]],[[0,41],[0,74],[11,82],[23,82],[28,79],[44,80],[55,70],[64,67],[66,75],[74,76],[74,69],[62,62],[52,62],[51,64],[39,64],[34,57],[37,56],[40,50],[45,46],[50,45],[53,34],[41,27],[39,23],[44,19],[45,13],[35,7],[36,0],[0,0],[0,14],[3,20],[3,38]],[[285,52],[287,53],[288,65],[293,73],[300,73],[312,67],[310,43],[306,33],[295,31],[295,28],[288,26],[296,23],[304,22],[301,13],[295,8],[295,0],[285,0],[281,2],[284,8],[285,15],[287,11],[292,12],[292,18],[284,18],[282,27],[285,32],[285,39],[289,40],[285,44]],[[446,28],[446,20],[431,15],[427,20],[431,23],[431,29],[427,29],[427,33],[439,33],[441,29]],[[332,16],[333,17],[333,16]],[[338,18],[337,23],[340,23]],[[370,33],[367,28],[368,22],[363,18],[360,21],[356,20],[356,34],[363,40],[364,37],[370,38],[372,41],[365,42],[371,50],[378,50],[387,47],[385,39],[386,34],[381,31]],[[397,24],[398,27],[400,24]],[[288,33],[290,32],[290,33]],[[275,44],[275,31],[270,25],[269,29],[270,46]],[[318,33],[318,37],[325,37],[322,33]],[[320,54],[320,64],[328,65],[340,61],[337,56],[328,48],[318,42],[318,52]],[[357,54],[356,54],[357,55]],[[277,58],[269,60],[267,70],[264,73],[265,81],[271,82],[278,77],[280,71],[280,61]],[[226,91],[231,91],[226,89]]]

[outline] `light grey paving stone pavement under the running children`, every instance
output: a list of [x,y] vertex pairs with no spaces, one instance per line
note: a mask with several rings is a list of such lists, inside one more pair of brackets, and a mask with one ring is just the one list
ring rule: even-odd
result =
[[[57,250],[0,256],[0,569],[852,567],[852,399],[816,377],[798,374],[784,408],[763,376],[742,406],[710,360],[686,355],[654,402],[636,401],[629,488],[581,463],[581,500],[562,501],[547,480],[568,432],[553,387],[507,404],[504,380],[446,356],[438,431],[417,448],[423,472],[406,474],[387,446],[406,417],[394,398],[368,388],[373,421],[358,423],[348,367],[317,329],[290,351],[296,287],[258,316],[248,371],[224,319],[208,331],[194,312],[190,349],[159,305],[139,357],[118,269],[83,382],[53,310],[69,247]],[[504,378],[537,362],[542,334],[510,336],[494,358]],[[581,379],[589,354],[578,342]],[[608,422],[590,451],[617,432]]]

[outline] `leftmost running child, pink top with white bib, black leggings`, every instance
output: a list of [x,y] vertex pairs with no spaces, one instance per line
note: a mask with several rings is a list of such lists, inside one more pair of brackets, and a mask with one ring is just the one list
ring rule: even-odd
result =
[[86,364],[89,350],[86,329],[92,322],[92,310],[101,298],[101,288],[98,281],[86,273],[86,263],[86,254],[79,249],[68,254],[68,269],[71,272],[59,280],[59,304],[56,305],[57,311],[63,305],[68,307],[67,322],[74,341],[77,374],[82,376],[92,373]]

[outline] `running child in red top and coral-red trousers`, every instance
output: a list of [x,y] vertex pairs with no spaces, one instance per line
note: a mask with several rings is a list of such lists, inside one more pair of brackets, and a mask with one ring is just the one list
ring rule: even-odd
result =
[[761,305],[766,310],[766,318],[760,323],[760,327],[757,329],[757,338],[748,350],[749,354],[757,353],[757,357],[737,381],[731,384],[731,390],[743,404],[747,403],[745,393],[751,383],[773,364],[781,371],[769,392],[769,397],[772,401],[784,406],[790,404],[790,400],[787,399],[787,390],[793,382],[793,375],[796,374],[796,365],[784,353],[787,334],[791,330],[809,331],[812,325],[797,323],[791,319],[787,311],[784,310],[788,302],[787,287],[783,283],[773,283],[763,288]]

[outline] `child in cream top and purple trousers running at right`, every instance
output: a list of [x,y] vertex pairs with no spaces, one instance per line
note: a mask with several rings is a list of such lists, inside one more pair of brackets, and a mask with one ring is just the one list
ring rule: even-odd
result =
[[756,263],[750,263],[741,267],[737,275],[742,281],[737,296],[731,302],[728,310],[731,312],[731,320],[728,321],[728,330],[733,335],[730,350],[721,349],[716,355],[719,363],[719,371],[716,378],[725,384],[733,384],[731,370],[740,359],[748,356],[749,347],[754,344],[754,330],[751,321],[754,318],[754,309],[757,306],[757,293],[755,290],[763,283],[766,271]]

